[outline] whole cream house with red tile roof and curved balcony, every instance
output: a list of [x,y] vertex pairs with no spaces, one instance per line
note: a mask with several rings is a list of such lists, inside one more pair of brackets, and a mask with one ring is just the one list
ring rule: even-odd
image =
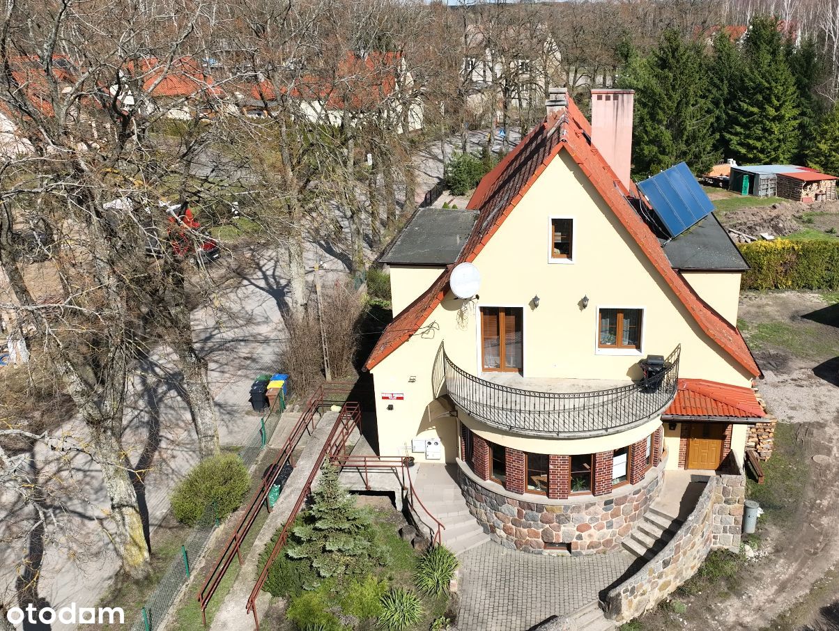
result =
[[378,449],[448,463],[508,547],[646,555],[636,527],[667,480],[742,474],[769,421],[736,324],[748,266],[710,210],[667,232],[668,212],[712,208],[687,169],[630,180],[632,91],[592,91],[591,123],[562,90],[547,110],[466,210],[417,211],[381,257]]

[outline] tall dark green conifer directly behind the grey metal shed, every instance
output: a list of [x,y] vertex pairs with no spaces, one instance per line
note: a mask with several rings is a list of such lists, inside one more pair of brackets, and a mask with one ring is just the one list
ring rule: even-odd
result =
[[732,157],[743,164],[789,163],[798,149],[799,99],[777,20],[754,18],[743,55],[725,133]]

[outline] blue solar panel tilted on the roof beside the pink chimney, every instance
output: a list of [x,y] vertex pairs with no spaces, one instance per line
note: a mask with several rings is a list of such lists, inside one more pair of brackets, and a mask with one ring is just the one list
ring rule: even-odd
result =
[[684,162],[638,183],[638,188],[671,238],[678,237],[714,210],[713,202]]

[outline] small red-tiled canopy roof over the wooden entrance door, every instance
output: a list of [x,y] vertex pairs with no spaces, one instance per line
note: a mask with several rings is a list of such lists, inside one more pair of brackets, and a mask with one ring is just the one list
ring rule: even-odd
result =
[[766,412],[751,388],[705,379],[679,379],[679,390],[664,415],[760,419]]

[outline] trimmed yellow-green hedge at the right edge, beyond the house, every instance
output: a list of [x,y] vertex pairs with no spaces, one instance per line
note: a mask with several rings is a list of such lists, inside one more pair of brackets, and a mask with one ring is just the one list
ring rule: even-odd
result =
[[738,245],[749,266],[742,289],[839,289],[839,240],[754,241]]

